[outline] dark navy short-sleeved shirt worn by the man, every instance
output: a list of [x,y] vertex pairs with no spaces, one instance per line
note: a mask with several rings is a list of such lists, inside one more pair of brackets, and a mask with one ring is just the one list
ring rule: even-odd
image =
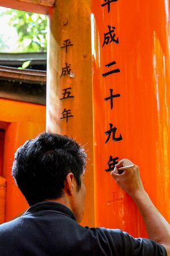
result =
[[119,229],[80,226],[71,210],[41,202],[0,225],[1,256],[167,256],[162,245]]

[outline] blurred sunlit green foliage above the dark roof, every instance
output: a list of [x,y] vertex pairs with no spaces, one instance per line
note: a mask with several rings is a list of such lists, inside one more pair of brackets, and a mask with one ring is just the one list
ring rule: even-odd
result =
[[10,26],[16,28],[19,37],[19,48],[23,52],[46,51],[47,17],[42,14],[26,13],[25,11],[6,11],[10,15]]

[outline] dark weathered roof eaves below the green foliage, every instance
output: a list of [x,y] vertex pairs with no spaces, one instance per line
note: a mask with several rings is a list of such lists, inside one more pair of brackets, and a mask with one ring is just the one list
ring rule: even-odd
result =
[[46,105],[46,53],[0,53],[0,66],[0,98]]

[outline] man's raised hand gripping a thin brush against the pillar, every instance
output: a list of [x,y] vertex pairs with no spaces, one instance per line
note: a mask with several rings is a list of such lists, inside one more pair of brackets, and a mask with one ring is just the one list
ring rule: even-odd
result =
[[[124,166],[134,165],[134,167],[128,168],[119,174],[118,168]],[[114,171],[111,172],[112,177],[117,181],[124,191],[126,191],[131,197],[135,196],[138,191],[144,191],[141,177],[139,175],[139,167],[133,164],[129,159],[122,159],[116,164]]]

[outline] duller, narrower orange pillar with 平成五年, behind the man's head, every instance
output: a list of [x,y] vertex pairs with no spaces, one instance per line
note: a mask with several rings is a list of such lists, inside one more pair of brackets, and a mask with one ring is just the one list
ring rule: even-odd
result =
[[46,129],[88,151],[83,224],[94,226],[90,0],[56,1],[49,18]]

